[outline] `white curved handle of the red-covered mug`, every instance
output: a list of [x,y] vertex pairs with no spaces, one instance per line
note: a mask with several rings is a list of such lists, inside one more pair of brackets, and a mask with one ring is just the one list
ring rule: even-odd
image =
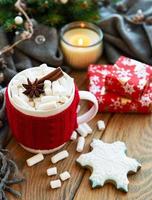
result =
[[96,97],[88,91],[79,91],[80,100],[88,100],[93,103],[93,106],[86,113],[77,117],[78,124],[90,121],[98,112],[98,101]]

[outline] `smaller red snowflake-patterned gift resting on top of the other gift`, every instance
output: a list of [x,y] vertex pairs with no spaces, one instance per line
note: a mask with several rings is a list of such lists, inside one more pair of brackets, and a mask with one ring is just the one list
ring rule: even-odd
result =
[[138,99],[148,85],[152,68],[144,63],[121,56],[106,76],[105,86],[109,92]]

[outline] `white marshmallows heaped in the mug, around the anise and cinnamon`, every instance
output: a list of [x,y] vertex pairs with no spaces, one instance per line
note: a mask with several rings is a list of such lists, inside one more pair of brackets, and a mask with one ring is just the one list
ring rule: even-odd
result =
[[47,75],[54,68],[42,64],[39,67],[30,68],[16,75],[10,85],[12,101],[27,110],[51,111],[66,103],[73,91],[73,79],[64,73],[64,76],[56,81],[44,81],[44,93],[40,97],[29,98],[23,92],[25,88],[22,84],[27,84],[27,78],[31,82]]

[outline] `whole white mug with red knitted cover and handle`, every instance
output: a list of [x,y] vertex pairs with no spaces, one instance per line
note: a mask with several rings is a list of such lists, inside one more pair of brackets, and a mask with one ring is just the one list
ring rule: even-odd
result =
[[[30,70],[36,72],[40,67]],[[52,69],[53,68],[50,68]],[[6,109],[12,134],[17,142],[32,153],[44,154],[61,148],[71,137],[78,124],[90,121],[98,111],[96,97],[87,91],[78,91],[74,82],[70,82],[72,93],[68,101],[59,108],[50,111],[33,111],[18,105],[12,98],[13,81],[23,77],[24,70],[18,73],[9,83],[6,90]],[[64,73],[65,74],[65,73]],[[68,75],[65,74],[67,77]],[[92,102],[92,107],[83,115],[77,116],[79,100]]]

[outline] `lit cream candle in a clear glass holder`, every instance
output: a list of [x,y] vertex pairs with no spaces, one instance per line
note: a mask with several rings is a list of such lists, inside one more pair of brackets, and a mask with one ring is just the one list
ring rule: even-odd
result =
[[61,29],[60,45],[68,65],[86,68],[102,55],[103,33],[92,23],[72,22]]

